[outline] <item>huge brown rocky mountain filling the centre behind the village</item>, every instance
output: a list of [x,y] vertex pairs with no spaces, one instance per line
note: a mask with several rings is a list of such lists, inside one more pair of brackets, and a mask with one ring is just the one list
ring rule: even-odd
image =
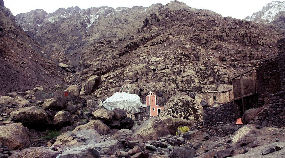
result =
[[130,84],[129,92],[141,98],[155,91],[159,105],[180,92],[231,83],[231,76],[276,54],[276,41],[284,36],[274,26],[179,1],[149,8],[34,10],[16,18],[48,57],[74,66],[67,84],[82,85],[97,75],[100,83],[92,90],[97,98]]

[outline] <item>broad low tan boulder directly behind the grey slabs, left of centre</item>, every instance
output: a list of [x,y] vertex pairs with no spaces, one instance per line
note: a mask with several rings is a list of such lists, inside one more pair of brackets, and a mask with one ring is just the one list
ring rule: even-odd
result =
[[111,132],[110,128],[100,120],[90,120],[85,125],[77,126],[72,132],[76,132],[83,129],[93,129],[101,135],[107,135]]

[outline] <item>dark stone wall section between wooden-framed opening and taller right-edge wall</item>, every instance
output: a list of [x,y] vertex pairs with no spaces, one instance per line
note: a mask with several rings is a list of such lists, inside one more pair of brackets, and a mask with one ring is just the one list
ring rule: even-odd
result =
[[262,61],[257,66],[258,94],[279,92],[281,88],[278,57]]

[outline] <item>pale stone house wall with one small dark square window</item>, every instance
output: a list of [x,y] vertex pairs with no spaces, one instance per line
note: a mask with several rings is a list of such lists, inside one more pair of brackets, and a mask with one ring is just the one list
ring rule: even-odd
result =
[[198,104],[200,104],[202,100],[205,100],[210,106],[215,102],[229,103],[232,99],[234,99],[232,90],[197,92],[195,97]]

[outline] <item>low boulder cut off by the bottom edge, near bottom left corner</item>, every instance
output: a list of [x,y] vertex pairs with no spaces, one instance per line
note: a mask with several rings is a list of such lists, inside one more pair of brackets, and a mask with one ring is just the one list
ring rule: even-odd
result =
[[31,147],[15,152],[9,158],[56,158],[60,152],[44,147]]

